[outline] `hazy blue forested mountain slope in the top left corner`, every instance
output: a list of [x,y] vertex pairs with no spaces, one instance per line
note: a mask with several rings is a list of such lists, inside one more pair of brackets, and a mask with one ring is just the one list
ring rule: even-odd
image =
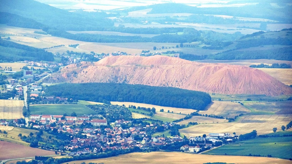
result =
[[104,12],[69,12],[33,0],[1,0],[0,3],[1,12],[33,19],[49,28],[86,31],[113,25],[112,20],[105,18]]

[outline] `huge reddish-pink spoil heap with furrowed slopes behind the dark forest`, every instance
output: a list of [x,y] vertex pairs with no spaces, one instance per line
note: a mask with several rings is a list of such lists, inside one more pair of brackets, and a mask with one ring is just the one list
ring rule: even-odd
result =
[[143,84],[223,94],[292,94],[291,87],[258,69],[160,55],[111,56],[95,63],[71,64],[46,81]]

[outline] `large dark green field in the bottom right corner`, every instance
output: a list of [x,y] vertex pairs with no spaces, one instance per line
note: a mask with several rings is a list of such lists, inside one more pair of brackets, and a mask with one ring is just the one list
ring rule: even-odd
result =
[[260,154],[277,158],[292,158],[292,136],[289,137],[269,137],[255,138],[246,141],[237,142],[236,144],[227,144],[217,149],[206,152],[211,155],[235,155],[248,156],[249,154]]

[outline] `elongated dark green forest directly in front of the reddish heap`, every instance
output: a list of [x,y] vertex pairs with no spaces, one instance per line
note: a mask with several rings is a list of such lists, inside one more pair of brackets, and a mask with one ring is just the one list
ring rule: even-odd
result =
[[46,87],[45,92],[74,100],[137,102],[196,110],[203,110],[211,102],[210,95],[204,92],[125,83],[62,83]]

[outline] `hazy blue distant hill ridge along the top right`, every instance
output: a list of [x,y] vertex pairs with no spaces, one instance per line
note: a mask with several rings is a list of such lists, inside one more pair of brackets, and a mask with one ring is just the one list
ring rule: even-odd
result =
[[[247,2],[245,2],[247,3]],[[248,3],[253,3],[248,1]],[[288,5],[288,1],[283,3],[281,9],[271,6],[270,1],[255,1],[256,5],[246,5],[241,7],[210,7],[200,8],[188,6],[185,4],[166,3],[155,4],[150,6],[133,7],[128,11],[143,10],[152,8],[147,14],[162,13],[192,13],[192,14],[212,14],[212,15],[230,15],[235,17],[264,18],[277,20],[282,22],[291,22],[292,7]],[[277,2],[274,2],[277,3]]]

